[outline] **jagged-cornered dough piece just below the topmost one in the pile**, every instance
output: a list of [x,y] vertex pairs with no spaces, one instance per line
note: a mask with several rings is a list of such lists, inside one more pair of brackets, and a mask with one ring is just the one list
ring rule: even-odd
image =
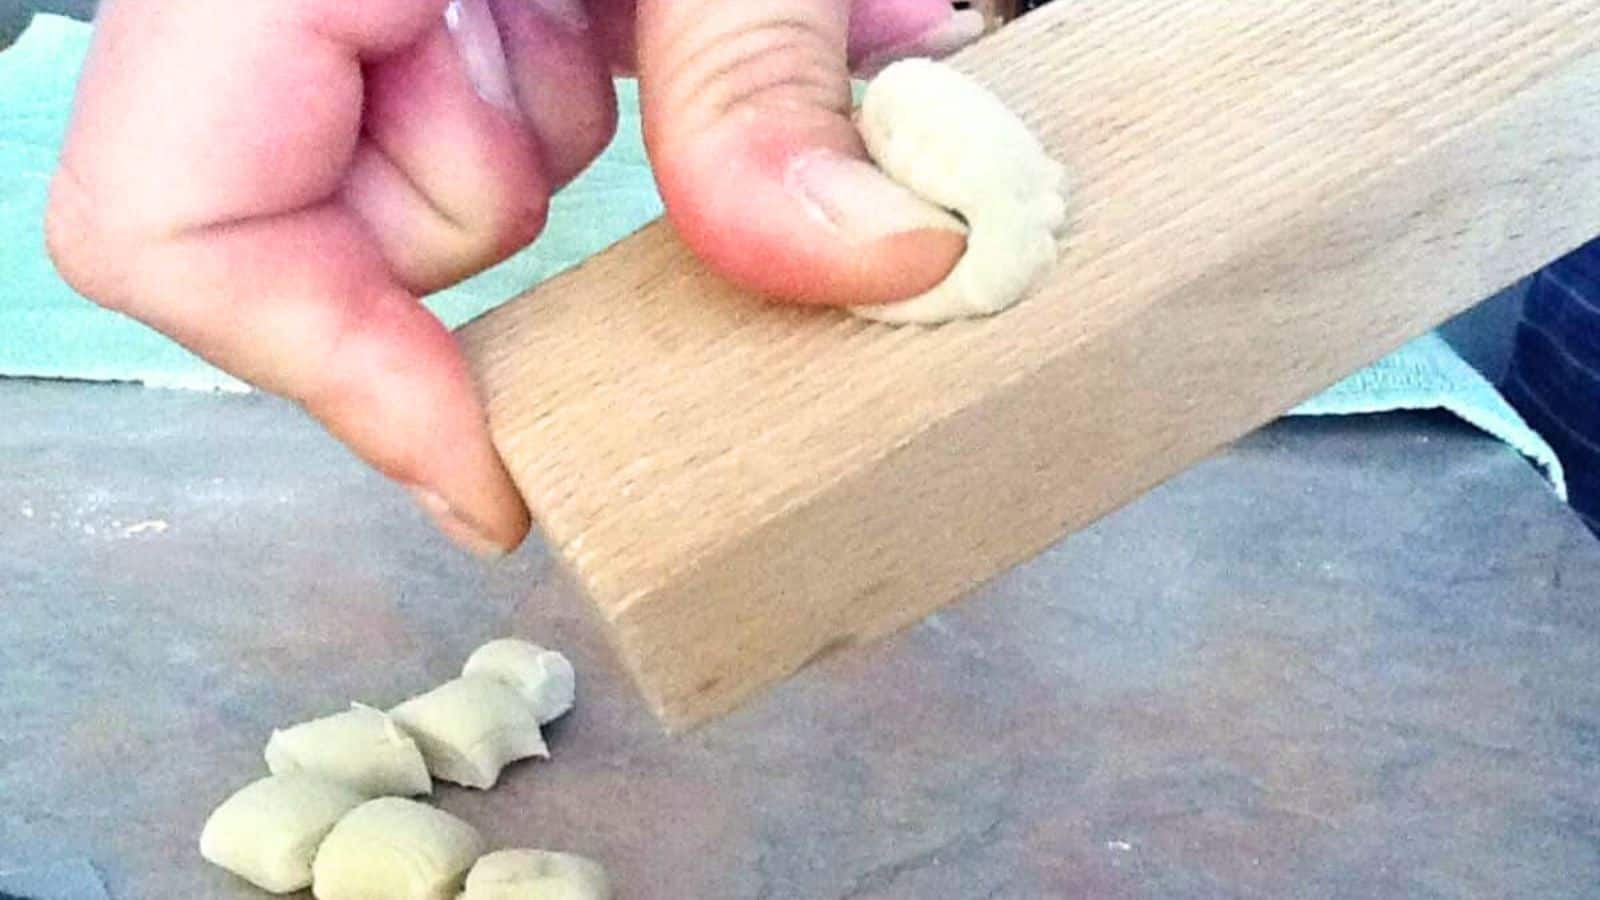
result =
[[488,790],[506,765],[550,756],[533,708],[514,689],[477,676],[448,681],[389,713],[442,781]]

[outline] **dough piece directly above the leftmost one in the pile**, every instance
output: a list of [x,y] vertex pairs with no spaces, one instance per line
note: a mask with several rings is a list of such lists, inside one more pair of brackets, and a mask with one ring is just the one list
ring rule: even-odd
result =
[[434,790],[416,741],[387,713],[360,703],[346,713],[272,732],[267,770],[317,775],[368,798],[410,798]]

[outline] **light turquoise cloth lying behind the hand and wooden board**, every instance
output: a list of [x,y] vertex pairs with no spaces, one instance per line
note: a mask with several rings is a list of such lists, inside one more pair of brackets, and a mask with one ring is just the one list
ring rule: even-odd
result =
[[[0,53],[0,375],[243,388],[176,344],[72,293],[45,258],[45,189],[66,128],[90,29],[38,16]],[[619,82],[621,131],[606,154],[563,191],[530,250],[429,298],[456,325],[522,293],[661,215],[645,162],[638,94]],[[1565,496],[1560,461],[1494,388],[1435,335],[1360,372],[1294,415],[1443,408],[1533,460]]]

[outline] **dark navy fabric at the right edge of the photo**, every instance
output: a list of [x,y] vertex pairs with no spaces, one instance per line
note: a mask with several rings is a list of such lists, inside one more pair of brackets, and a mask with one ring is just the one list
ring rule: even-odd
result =
[[1534,275],[1501,389],[1555,448],[1573,508],[1600,535],[1600,240]]

